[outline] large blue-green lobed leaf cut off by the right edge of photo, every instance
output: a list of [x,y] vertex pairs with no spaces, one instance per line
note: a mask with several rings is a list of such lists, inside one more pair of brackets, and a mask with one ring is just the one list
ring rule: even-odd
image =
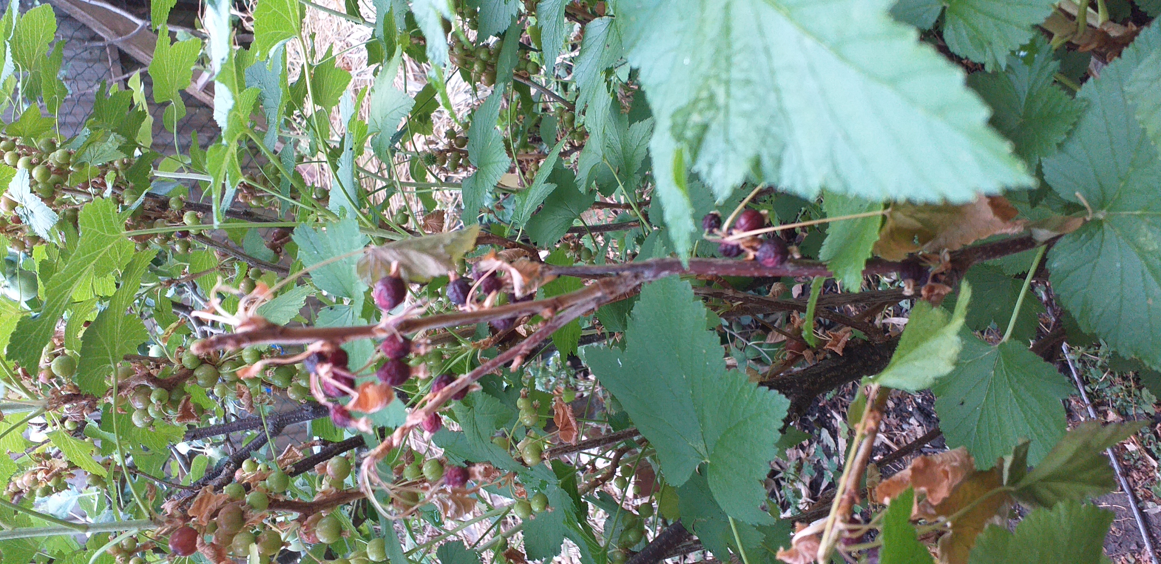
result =
[[1079,97],[1089,110],[1043,161],[1052,188],[1094,212],[1048,252],[1053,290],[1081,330],[1154,367],[1161,367],[1161,154],[1125,88],[1159,46],[1161,28],[1149,27],[1086,82]]

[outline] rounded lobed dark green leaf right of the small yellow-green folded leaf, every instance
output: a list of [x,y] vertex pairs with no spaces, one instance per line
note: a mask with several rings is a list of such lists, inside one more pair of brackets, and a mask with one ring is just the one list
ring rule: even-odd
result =
[[1030,440],[1029,458],[1039,462],[1065,434],[1060,400],[1073,386],[1024,344],[962,340],[956,369],[933,390],[947,447],[967,447],[983,469]]

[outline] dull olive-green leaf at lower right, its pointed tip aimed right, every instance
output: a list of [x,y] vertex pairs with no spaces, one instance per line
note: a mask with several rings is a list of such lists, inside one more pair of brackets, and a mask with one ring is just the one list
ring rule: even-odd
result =
[[1084,421],[1065,434],[1012,492],[1017,499],[1041,507],[1083,500],[1117,487],[1104,450],[1132,435],[1144,422],[1101,425]]

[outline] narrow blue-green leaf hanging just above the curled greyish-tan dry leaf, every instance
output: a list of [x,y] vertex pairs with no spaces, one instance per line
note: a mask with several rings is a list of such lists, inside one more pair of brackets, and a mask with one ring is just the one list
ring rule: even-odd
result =
[[461,187],[463,223],[468,225],[478,222],[485,198],[512,165],[507,152],[504,151],[504,137],[496,129],[503,97],[503,89],[492,92],[473,114],[471,126],[468,128],[468,160],[476,167],[476,172],[468,176]]

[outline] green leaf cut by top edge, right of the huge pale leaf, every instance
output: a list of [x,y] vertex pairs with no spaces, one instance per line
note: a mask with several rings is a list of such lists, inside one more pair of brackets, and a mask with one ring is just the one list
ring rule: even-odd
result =
[[943,38],[956,55],[1004,68],[1008,53],[1027,43],[1032,27],[1052,13],[1053,0],[951,0]]

